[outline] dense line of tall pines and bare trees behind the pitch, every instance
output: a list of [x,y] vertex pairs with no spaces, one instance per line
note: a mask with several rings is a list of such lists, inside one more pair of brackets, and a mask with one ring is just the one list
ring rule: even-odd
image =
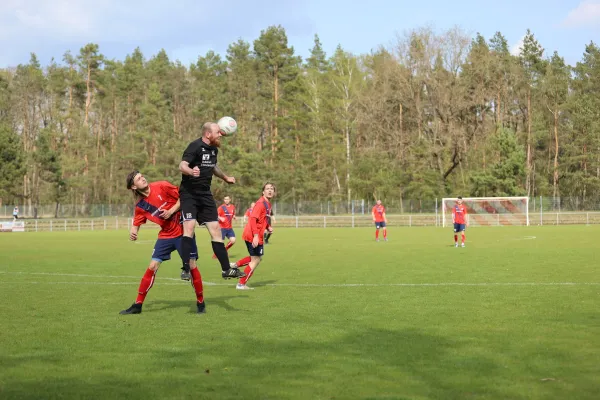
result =
[[506,38],[423,27],[389,48],[302,59],[281,26],[224,57],[183,65],[139,48],[108,59],[97,44],[42,66],[0,70],[0,200],[132,201],[124,177],[178,184],[186,145],[205,121],[234,117],[215,194],[251,200],[262,182],[279,201],[561,196],[600,193],[600,48],[575,66],[527,31]]

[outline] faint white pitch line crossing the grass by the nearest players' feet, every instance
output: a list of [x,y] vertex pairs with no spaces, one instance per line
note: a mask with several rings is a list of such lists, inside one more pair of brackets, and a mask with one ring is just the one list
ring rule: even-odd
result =
[[[138,279],[137,276],[126,275],[90,275],[90,274],[61,274],[52,272],[7,272],[0,271],[5,275],[45,275],[45,276],[73,276],[85,278],[127,278]],[[161,282],[161,285],[189,285],[188,281],[182,281],[177,278],[157,278],[157,280],[167,280],[176,282]],[[49,284],[49,285],[137,285],[139,280],[133,282],[38,282],[38,281],[2,281],[0,284]],[[207,286],[233,286],[235,283],[216,283],[204,281]],[[259,282],[260,284],[260,282]],[[600,286],[600,282],[438,282],[438,283],[267,283],[259,285],[264,287],[444,287],[444,286],[463,286],[463,287],[486,287],[486,286]]]

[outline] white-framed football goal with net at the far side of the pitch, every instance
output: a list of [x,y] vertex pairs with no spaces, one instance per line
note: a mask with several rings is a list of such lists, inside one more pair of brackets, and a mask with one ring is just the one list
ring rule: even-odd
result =
[[[452,226],[456,198],[442,199],[442,225]],[[469,226],[529,225],[528,197],[465,197]]]

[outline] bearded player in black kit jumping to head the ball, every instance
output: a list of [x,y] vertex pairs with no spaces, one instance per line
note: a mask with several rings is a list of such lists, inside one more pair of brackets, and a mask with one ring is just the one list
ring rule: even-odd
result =
[[182,174],[179,199],[183,216],[181,252],[184,268],[189,271],[190,258],[197,258],[193,249],[194,228],[198,221],[200,225],[205,225],[210,233],[213,252],[221,264],[221,276],[224,279],[242,278],[246,274],[237,268],[232,268],[229,264],[229,256],[219,227],[217,205],[210,191],[213,175],[229,184],[235,183],[234,177],[225,175],[217,166],[221,136],[219,125],[207,122],[202,125],[202,137],[190,143],[183,152],[179,164]]

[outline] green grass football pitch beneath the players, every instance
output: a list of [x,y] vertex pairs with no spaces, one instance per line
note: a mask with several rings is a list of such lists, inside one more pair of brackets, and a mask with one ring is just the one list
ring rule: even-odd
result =
[[1,234],[0,398],[600,397],[600,226],[373,231],[280,229],[253,291],[200,231],[207,314],[173,254],[129,316],[155,230]]

